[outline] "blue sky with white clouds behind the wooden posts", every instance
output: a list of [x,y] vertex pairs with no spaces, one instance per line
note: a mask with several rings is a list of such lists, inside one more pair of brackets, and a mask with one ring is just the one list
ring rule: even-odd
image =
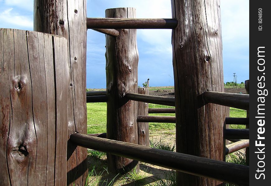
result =
[[[135,7],[138,18],[171,18],[170,0],[88,0],[88,17],[104,17],[107,8]],[[33,0],[0,0],[0,28],[33,30]],[[249,79],[249,1],[221,0],[224,82]],[[171,30],[138,29],[138,85],[172,86]],[[87,88],[105,88],[105,36],[88,29]]]

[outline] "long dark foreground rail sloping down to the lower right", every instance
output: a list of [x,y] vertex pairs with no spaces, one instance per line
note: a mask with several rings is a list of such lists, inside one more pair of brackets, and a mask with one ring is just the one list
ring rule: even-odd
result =
[[249,166],[79,133],[71,134],[70,140],[81,147],[106,152],[116,156],[127,157],[140,162],[146,162],[192,175],[216,179],[226,183],[249,185]]

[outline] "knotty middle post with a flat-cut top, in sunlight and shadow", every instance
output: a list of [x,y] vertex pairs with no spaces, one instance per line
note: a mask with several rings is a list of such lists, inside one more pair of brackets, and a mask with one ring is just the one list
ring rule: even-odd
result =
[[[109,18],[135,18],[135,8],[107,9]],[[106,35],[107,138],[138,143],[137,102],[127,100],[128,92],[137,93],[138,50],[136,29],[118,29],[115,38]],[[130,170],[137,161],[107,154],[111,172]]]

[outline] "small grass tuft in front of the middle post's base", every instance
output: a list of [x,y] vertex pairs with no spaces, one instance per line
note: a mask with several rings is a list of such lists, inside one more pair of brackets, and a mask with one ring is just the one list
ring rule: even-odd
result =
[[141,186],[147,184],[145,178],[146,173],[136,172],[136,168],[123,175],[123,179],[126,183],[133,183],[134,186]]

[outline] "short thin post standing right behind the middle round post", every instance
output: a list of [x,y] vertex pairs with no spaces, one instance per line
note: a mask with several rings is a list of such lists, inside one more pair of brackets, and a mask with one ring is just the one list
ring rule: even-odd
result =
[[[149,88],[138,88],[138,94],[149,95]],[[148,103],[138,101],[137,105],[138,105],[137,115],[142,115],[142,116],[149,115]],[[149,147],[150,146],[149,123],[137,122],[137,127],[138,127],[138,144]]]

